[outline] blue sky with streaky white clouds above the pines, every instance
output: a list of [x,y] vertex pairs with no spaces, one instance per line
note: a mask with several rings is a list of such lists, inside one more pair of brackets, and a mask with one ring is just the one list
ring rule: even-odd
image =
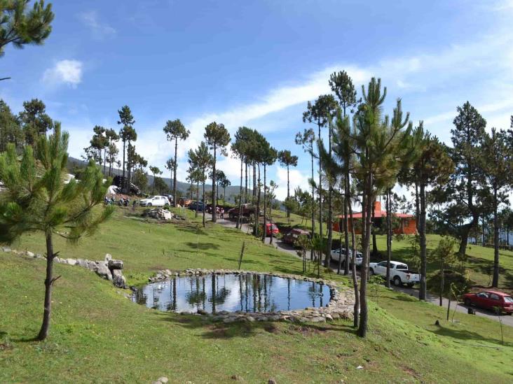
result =
[[[411,120],[449,141],[456,106],[470,101],[488,128],[513,114],[513,1],[53,1],[53,33],[41,47],[8,48],[0,97],[13,111],[33,97],[71,134],[79,157],[93,126],[118,129],[117,111],[135,117],[137,152],[163,169],[172,155],[162,127],[179,118],[191,138],[215,120],[247,125],[275,148],[300,156],[291,186],[305,187],[308,157],[294,134],[308,125],[308,100],[329,92],[345,69],[360,86],[388,87],[385,112],[402,98]],[[219,166],[238,184],[238,163]],[[278,164],[270,178],[286,195]]]

